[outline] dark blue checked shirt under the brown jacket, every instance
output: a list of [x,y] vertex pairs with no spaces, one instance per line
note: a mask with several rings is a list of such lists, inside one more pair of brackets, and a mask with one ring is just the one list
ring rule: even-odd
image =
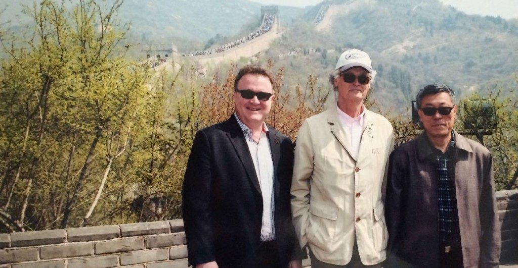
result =
[[459,226],[457,213],[457,198],[455,196],[454,151],[455,135],[452,132],[452,140],[445,153],[437,150],[437,209],[439,238],[441,242],[450,244],[459,241]]

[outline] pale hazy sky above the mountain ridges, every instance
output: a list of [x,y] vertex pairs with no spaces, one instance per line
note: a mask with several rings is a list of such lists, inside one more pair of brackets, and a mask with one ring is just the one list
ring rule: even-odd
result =
[[[313,6],[322,0],[251,0],[262,4],[277,4],[282,6]],[[440,0],[467,14],[500,16],[505,19],[518,18],[518,0]]]

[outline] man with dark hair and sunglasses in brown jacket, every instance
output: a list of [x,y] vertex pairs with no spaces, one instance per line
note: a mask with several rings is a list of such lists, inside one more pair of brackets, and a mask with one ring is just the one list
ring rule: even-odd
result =
[[457,106],[448,86],[425,86],[416,102],[425,131],[389,161],[386,266],[498,267],[491,153],[452,130]]

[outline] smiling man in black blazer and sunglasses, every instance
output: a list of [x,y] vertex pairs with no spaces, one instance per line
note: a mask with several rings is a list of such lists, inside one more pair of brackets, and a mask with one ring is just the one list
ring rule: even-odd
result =
[[196,133],[182,187],[189,265],[301,267],[292,225],[293,144],[265,123],[271,74],[246,66],[235,113]]

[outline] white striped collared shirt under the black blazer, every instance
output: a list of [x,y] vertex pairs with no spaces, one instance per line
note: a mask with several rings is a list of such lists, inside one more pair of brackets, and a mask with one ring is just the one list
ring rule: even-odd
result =
[[261,241],[271,241],[275,239],[275,225],[274,225],[274,162],[271,156],[270,142],[266,136],[268,127],[263,123],[263,131],[261,137],[256,143],[252,138],[252,130],[249,129],[236,113],[234,113],[244,137],[247,140],[248,149],[252,156],[254,163],[255,174],[261,186],[261,193],[263,195],[263,220],[261,225]]

